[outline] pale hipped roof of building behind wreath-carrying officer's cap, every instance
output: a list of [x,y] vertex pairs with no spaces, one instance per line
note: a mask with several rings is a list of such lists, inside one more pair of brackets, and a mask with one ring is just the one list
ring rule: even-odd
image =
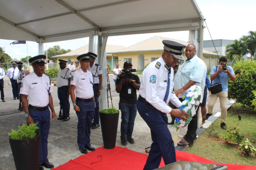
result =
[[[118,53],[126,53],[126,52],[163,51],[163,47],[164,47],[164,45],[162,43],[163,40],[175,41],[175,42],[181,43],[185,46],[187,46],[189,44],[186,41],[155,36],[155,37],[149,38],[145,41],[141,41],[137,44],[129,46],[125,49],[120,49],[120,50],[116,50],[116,51],[109,51],[109,52],[106,52],[106,53],[107,54],[118,54]],[[203,54],[217,55],[216,53],[209,52],[207,50],[203,50]]]

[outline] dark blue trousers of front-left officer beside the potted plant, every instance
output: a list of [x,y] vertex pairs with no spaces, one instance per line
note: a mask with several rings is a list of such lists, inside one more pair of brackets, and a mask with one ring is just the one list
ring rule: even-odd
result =
[[39,164],[43,162],[48,162],[48,135],[50,130],[50,110],[46,109],[44,111],[36,111],[28,109],[31,118],[34,120],[34,123],[37,123],[37,129],[41,133],[40,141],[40,157]]

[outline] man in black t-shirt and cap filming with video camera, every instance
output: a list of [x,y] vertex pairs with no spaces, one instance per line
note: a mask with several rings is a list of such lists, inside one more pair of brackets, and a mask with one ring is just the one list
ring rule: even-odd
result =
[[[124,63],[124,70],[131,70],[132,63]],[[131,73],[131,72],[129,72]],[[121,143],[127,145],[127,141],[134,143],[132,132],[137,114],[137,93],[140,89],[140,79],[138,75],[132,74],[132,79],[124,79],[124,74],[120,74],[116,79],[116,92],[119,93],[119,109],[121,110]]]

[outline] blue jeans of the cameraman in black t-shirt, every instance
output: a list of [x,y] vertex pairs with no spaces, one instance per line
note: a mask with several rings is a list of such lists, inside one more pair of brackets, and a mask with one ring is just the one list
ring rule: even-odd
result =
[[137,114],[137,104],[120,103],[121,110],[121,139],[132,137],[134,121]]

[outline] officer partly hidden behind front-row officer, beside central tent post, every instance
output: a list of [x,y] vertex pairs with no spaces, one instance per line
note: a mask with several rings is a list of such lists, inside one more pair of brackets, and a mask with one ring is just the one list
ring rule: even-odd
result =
[[96,107],[95,107],[95,113],[94,113],[94,118],[92,123],[92,129],[96,129],[100,127],[99,96],[101,95],[102,69],[100,65],[96,63],[94,64],[94,61],[97,58],[97,55],[92,52],[88,52],[87,54],[91,55],[90,67],[88,70],[92,72],[94,77],[93,93],[94,93],[94,99],[96,102]]

